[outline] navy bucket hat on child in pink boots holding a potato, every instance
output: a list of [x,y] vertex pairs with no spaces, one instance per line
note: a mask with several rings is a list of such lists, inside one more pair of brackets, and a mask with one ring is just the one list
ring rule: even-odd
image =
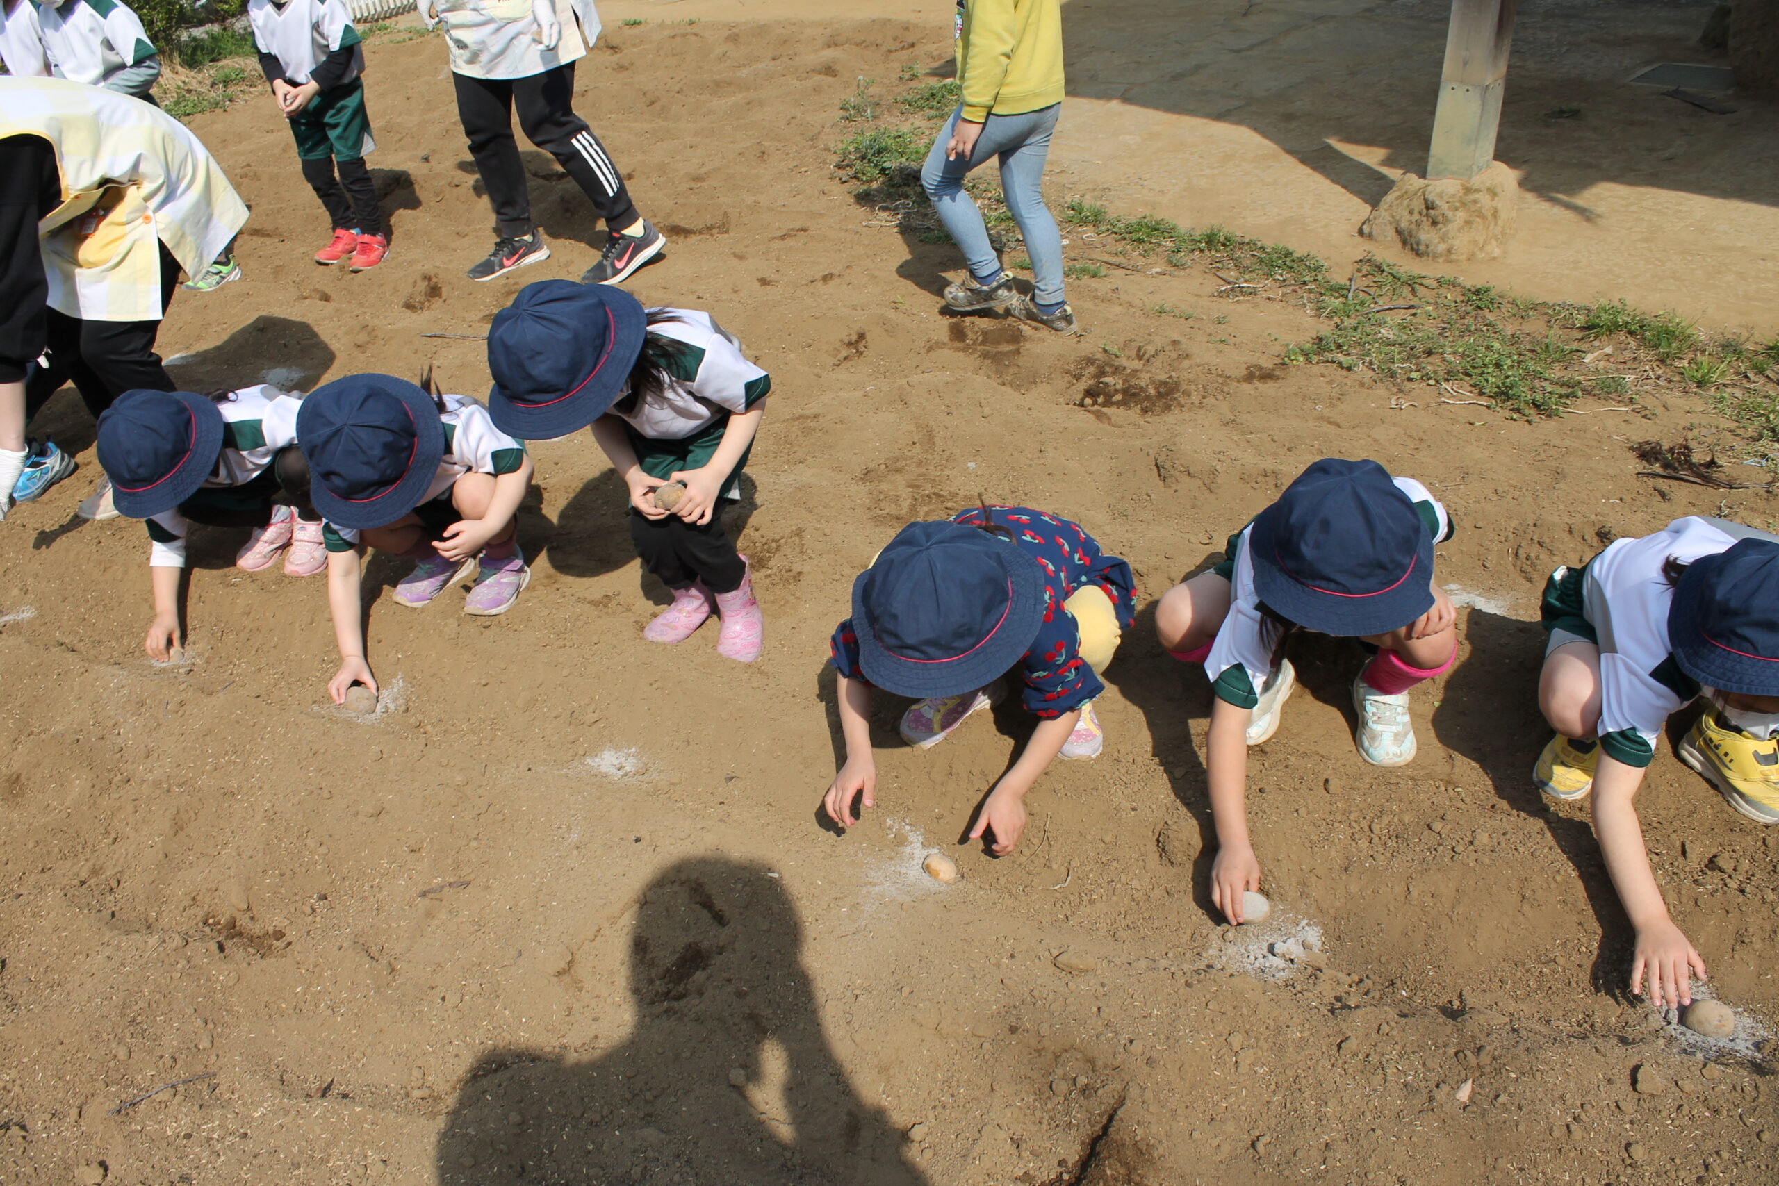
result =
[[487,413],[521,441],[580,432],[624,389],[648,338],[642,302],[610,284],[527,284],[487,329]]

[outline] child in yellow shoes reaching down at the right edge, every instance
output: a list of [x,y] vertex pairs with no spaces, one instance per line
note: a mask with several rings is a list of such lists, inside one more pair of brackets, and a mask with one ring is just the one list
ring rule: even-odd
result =
[[1637,928],[1631,992],[1692,1001],[1704,960],[1669,918],[1633,797],[1667,718],[1704,711],[1676,756],[1749,820],[1779,823],[1779,539],[1686,517],[1614,541],[1544,587],[1539,709],[1557,731],[1532,772],[1550,798],[1592,793],[1594,834]]

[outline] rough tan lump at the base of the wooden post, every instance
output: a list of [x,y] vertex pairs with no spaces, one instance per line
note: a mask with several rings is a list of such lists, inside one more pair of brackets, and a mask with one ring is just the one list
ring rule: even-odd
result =
[[1404,172],[1359,233],[1425,260],[1491,260],[1514,233],[1517,206],[1519,178],[1498,160],[1469,181]]

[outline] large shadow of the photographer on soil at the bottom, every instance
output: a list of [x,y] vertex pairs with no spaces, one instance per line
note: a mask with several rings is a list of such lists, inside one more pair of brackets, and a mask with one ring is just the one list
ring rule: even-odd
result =
[[439,1133],[439,1186],[925,1186],[829,1049],[801,955],[776,873],[667,866],[637,905],[630,1037],[589,1062],[484,1053]]

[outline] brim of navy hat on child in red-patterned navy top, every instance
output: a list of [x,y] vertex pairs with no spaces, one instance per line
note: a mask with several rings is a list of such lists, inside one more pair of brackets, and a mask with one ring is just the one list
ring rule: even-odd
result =
[[886,651],[865,612],[865,581],[872,573],[870,569],[859,573],[852,581],[852,633],[859,640],[859,670],[865,677],[895,695],[930,699],[984,688],[1018,663],[1032,649],[1032,640],[1044,624],[1044,573],[1037,567],[1037,560],[1019,551],[1016,544],[1007,548],[1010,551],[1007,617],[982,645],[955,660],[906,660]]

